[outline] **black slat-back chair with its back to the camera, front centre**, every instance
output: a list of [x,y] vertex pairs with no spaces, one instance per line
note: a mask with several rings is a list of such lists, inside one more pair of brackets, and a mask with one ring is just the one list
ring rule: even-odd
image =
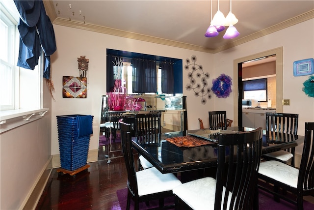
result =
[[[262,128],[219,134],[216,179],[192,180],[173,189],[176,208],[193,210],[253,209],[262,153]],[[230,208],[232,207],[232,208]]]

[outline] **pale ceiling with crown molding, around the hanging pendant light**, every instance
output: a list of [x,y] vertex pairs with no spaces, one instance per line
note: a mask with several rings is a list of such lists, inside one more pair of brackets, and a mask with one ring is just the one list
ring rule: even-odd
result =
[[[53,0],[52,22],[168,45],[216,53],[288,26],[314,18],[314,0],[232,0],[240,35],[205,37],[217,0]],[[71,5],[70,5],[71,4]],[[229,0],[220,0],[226,16]],[[49,14],[48,14],[49,15]],[[51,14],[52,15],[52,14]],[[51,17],[51,15],[49,15]],[[52,19],[52,18],[51,18]]]

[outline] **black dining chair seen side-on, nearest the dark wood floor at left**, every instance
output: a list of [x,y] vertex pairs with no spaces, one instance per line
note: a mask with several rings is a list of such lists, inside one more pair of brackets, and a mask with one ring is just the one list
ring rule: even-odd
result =
[[133,148],[131,141],[131,124],[120,120],[121,144],[128,173],[127,209],[130,209],[131,199],[134,209],[138,210],[140,202],[159,199],[159,207],[173,209],[174,205],[163,207],[163,199],[173,196],[172,189],[181,184],[173,174],[161,174],[155,167],[138,171],[135,170]]

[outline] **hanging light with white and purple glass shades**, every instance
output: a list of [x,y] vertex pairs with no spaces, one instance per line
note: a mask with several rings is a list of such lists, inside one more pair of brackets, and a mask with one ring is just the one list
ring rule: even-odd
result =
[[219,0],[218,0],[218,10],[212,18],[212,0],[210,0],[210,25],[206,30],[206,37],[218,36],[220,31],[225,30],[226,26],[229,27],[226,30],[224,39],[233,39],[237,37],[240,33],[235,29],[234,25],[238,22],[235,15],[232,13],[232,4],[230,0],[230,10],[227,17],[219,10]]

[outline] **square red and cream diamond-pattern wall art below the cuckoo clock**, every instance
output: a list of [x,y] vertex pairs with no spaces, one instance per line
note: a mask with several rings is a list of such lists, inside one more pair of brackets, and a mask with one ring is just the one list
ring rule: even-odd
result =
[[86,98],[87,78],[63,76],[63,98]]

